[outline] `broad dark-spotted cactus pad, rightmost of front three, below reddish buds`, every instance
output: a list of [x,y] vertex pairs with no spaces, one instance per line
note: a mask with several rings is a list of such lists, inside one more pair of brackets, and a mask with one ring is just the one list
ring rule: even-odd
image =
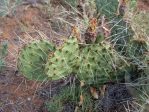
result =
[[[92,44],[82,50],[77,76],[87,84],[104,83],[116,79],[115,71],[121,68],[118,57],[108,44]],[[124,65],[124,64],[123,64]]]

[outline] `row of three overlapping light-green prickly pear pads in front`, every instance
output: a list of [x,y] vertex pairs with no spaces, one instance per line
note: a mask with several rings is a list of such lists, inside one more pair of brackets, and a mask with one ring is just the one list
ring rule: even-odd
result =
[[116,78],[119,62],[109,43],[80,46],[76,37],[70,37],[56,49],[45,40],[26,45],[20,52],[18,68],[32,80],[59,80],[75,73],[79,80],[90,84],[95,79],[103,83]]

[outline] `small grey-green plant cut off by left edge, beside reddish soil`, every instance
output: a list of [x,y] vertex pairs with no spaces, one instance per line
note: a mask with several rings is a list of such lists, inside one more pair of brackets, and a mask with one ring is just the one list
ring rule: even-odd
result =
[[7,55],[7,42],[0,43],[0,71],[5,66],[5,56]]

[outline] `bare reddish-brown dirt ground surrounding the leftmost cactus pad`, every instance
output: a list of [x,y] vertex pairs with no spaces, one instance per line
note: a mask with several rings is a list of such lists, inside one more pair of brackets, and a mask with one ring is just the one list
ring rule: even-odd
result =
[[[139,0],[138,8],[149,10],[149,3]],[[0,18],[0,42],[9,42],[7,67],[0,72],[0,112],[47,112],[42,108],[45,99],[39,97],[37,92],[49,87],[51,82],[27,80],[18,73],[16,60],[19,49],[28,41],[42,38],[42,34],[53,39],[55,35],[50,29],[47,16],[38,7],[23,5],[17,9],[15,16]]]

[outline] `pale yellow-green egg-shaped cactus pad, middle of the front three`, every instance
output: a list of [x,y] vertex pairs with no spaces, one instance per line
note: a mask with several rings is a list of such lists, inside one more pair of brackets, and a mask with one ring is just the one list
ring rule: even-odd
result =
[[62,48],[57,49],[49,58],[46,64],[47,75],[52,80],[58,80],[72,73],[78,60],[78,53],[77,38],[70,37]]

